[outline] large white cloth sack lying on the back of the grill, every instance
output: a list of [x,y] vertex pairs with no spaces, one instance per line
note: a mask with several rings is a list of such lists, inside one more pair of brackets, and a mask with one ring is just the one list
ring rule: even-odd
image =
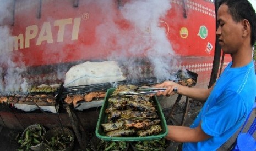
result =
[[64,86],[78,86],[126,80],[115,61],[85,62],[66,73]]

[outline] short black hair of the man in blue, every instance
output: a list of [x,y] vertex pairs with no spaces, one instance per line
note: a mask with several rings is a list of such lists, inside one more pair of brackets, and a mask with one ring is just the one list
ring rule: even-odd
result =
[[243,19],[249,21],[252,31],[250,44],[253,46],[256,41],[256,13],[252,4],[248,0],[220,0],[219,6],[221,4],[228,6],[228,11],[234,21],[239,22]]

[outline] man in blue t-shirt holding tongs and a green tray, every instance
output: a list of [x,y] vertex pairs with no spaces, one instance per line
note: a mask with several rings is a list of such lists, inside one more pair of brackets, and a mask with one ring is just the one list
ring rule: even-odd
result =
[[256,39],[256,14],[247,0],[221,0],[217,13],[219,44],[232,62],[209,89],[188,88],[175,82],[157,96],[182,94],[206,101],[190,127],[168,126],[168,140],[183,143],[183,150],[216,150],[244,123],[256,98],[252,46]]

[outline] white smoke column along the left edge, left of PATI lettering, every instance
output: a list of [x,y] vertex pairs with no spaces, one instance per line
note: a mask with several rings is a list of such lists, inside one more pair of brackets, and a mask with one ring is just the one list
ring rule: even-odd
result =
[[0,0],[0,3],[0,92],[20,91],[21,84],[21,90],[24,91],[27,84],[21,75],[26,68],[22,61],[23,56],[12,52],[14,40],[9,28],[12,24],[14,1]]

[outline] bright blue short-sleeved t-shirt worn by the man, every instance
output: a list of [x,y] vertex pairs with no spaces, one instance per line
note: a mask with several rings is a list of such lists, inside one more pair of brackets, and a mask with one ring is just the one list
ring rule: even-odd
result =
[[210,136],[197,143],[183,143],[183,151],[217,150],[246,120],[256,98],[253,61],[239,68],[228,64],[191,128],[201,127]]

